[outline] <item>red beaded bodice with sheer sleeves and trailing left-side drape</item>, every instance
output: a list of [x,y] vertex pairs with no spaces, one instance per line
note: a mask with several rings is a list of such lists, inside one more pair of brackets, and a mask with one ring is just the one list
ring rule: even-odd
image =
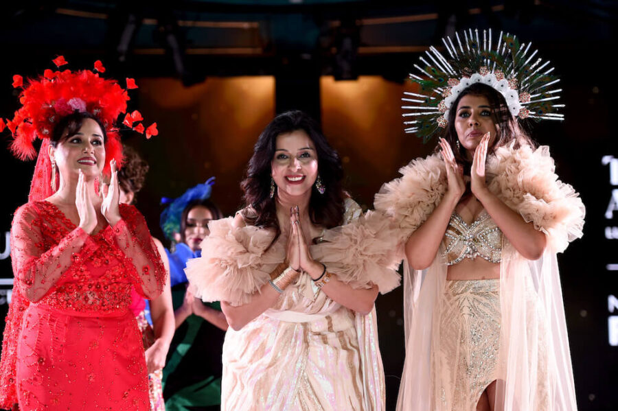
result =
[[144,217],[122,204],[120,215],[115,226],[88,235],[50,202],[29,202],[16,211],[14,294],[0,362],[0,408],[15,400],[16,344],[28,304],[76,316],[116,316],[127,312],[132,287],[146,298],[160,294],[165,270]]

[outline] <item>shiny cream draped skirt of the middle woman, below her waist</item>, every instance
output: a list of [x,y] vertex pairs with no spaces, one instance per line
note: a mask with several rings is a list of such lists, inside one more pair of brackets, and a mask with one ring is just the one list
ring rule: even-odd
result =
[[365,406],[365,396],[381,398],[383,393],[363,381],[354,322],[354,313],[341,307],[311,322],[262,314],[240,331],[228,330],[221,409],[374,410]]

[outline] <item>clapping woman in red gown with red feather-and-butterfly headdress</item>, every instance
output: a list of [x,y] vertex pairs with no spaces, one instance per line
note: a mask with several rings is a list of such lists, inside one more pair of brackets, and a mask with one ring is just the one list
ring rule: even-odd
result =
[[[84,73],[61,80],[80,93],[75,84],[82,85]],[[88,80],[100,80],[94,76]],[[47,136],[37,117],[27,117],[43,144],[29,202],[16,211],[11,229],[15,286],[0,364],[0,406],[148,410],[144,347],[128,309],[130,290],[157,296],[165,272],[144,218],[135,207],[119,205],[119,141],[108,134],[119,113],[91,103],[101,104],[106,90],[124,90],[100,82],[101,95],[68,99],[72,113],[56,117]],[[31,81],[29,89],[36,85]],[[30,97],[25,89],[22,102]],[[47,103],[56,115],[64,113],[62,104]],[[27,119],[12,121],[16,144],[23,145]],[[100,195],[98,178],[108,163],[111,183]]]

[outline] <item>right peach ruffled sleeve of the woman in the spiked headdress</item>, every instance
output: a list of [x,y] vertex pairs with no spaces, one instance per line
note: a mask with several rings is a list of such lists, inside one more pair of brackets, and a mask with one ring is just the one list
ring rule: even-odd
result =
[[549,147],[498,148],[487,169],[490,191],[545,233],[550,250],[561,253],[582,237],[586,209],[573,187],[558,180]]

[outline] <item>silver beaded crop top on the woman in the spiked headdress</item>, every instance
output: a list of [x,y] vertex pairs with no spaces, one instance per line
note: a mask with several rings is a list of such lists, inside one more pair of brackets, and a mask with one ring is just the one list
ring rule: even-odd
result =
[[501,261],[502,231],[485,210],[471,224],[466,223],[459,214],[453,213],[442,241],[447,266],[477,256],[490,263]]

